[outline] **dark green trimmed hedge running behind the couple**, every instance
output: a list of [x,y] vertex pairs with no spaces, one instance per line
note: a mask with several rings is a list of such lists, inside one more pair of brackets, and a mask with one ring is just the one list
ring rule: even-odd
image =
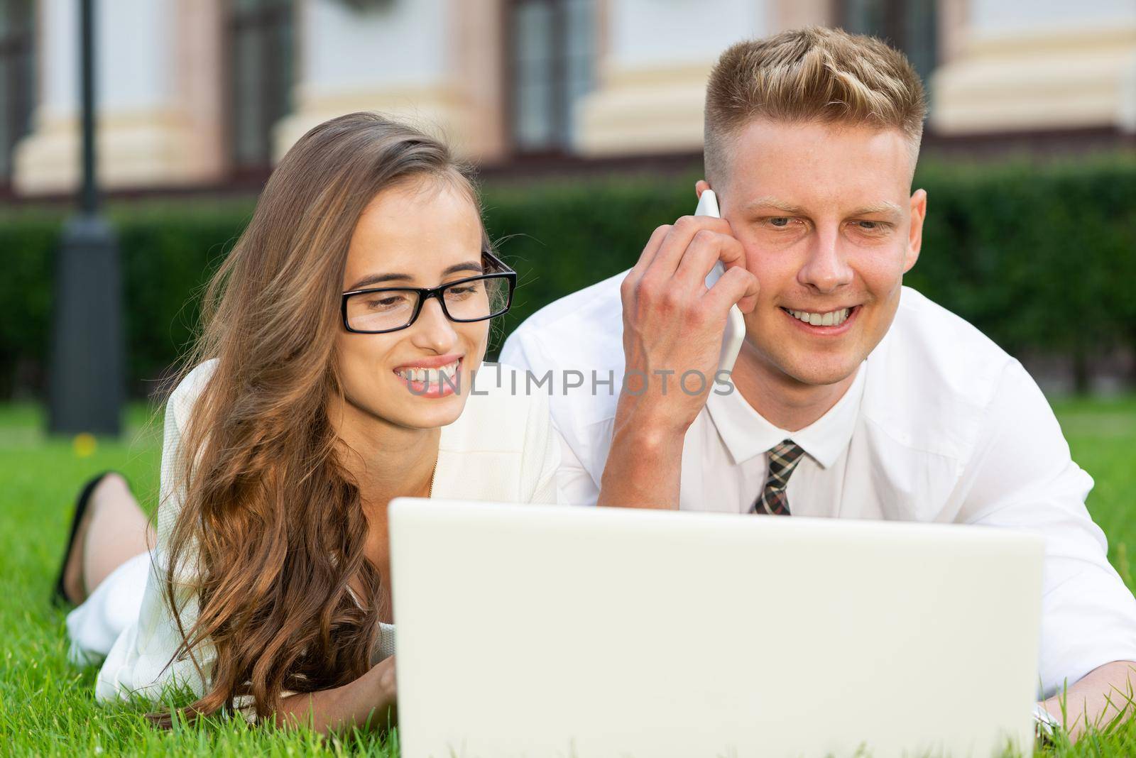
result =
[[[695,178],[486,187],[490,234],[520,273],[506,331],[556,297],[629,267],[655,226],[691,212]],[[908,284],[1016,354],[1069,356],[1084,368],[1106,351],[1136,346],[1136,159],[928,162],[917,184],[928,192],[928,218]],[[190,338],[197,293],[251,210],[251,200],[111,209],[135,394]],[[0,397],[42,391],[60,219],[47,210],[0,214]]]

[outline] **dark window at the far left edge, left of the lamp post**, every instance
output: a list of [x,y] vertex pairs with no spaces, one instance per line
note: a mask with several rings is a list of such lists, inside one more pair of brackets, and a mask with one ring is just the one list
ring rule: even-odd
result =
[[0,185],[10,184],[12,149],[32,126],[34,17],[32,0],[0,0]]

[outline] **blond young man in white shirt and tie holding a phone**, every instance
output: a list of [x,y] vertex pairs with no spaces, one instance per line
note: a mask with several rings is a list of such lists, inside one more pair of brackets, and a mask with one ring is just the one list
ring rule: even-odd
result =
[[[722,218],[659,227],[630,271],[540,311],[502,361],[552,371],[570,503],[1044,536],[1043,705],[1060,718],[1068,685],[1077,734],[1130,698],[1136,600],[1035,382],[902,287],[927,211],[911,192],[925,113],[919,77],[878,40],[810,28],[734,45],[710,76],[696,185]],[[745,342],[722,394],[735,303]]]

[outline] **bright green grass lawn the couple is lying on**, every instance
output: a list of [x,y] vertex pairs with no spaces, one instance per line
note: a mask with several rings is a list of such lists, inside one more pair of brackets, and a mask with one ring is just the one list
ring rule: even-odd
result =
[[[1055,409],[1074,457],[1096,480],[1088,505],[1109,536],[1109,558],[1133,588],[1136,398],[1062,401]],[[67,664],[65,613],[48,598],[84,480],[117,469],[148,506],[154,502],[160,428],[148,424],[145,409],[134,407],[122,440],[100,440],[80,455],[70,440],[44,437],[40,409],[0,406],[0,755],[390,755],[377,738],[358,732],[321,740],[232,719],[161,732],[148,725],[142,705],[94,704],[95,672]],[[1136,726],[1042,755],[1133,756]]]

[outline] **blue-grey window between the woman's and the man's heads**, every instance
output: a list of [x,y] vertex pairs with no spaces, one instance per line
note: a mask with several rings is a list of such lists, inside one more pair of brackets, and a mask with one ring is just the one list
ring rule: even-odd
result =
[[509,104],[517,152],[570,152],[573,119],[594,84],[595,0],[511,0]]

